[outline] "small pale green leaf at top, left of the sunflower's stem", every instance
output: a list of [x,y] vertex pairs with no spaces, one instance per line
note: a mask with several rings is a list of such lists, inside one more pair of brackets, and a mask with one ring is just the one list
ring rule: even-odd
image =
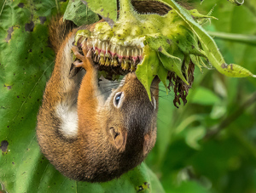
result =
[[81,1],[69,1],[63,19],[72,20],[77,26],[82,26],[95,23],[99,17]]

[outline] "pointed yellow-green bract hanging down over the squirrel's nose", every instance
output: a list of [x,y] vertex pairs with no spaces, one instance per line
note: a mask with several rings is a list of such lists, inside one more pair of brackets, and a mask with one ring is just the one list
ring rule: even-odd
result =
[[142,82],[143,86],[146,88],[151,101],[150,86],[155,75],[158,73],[160,60],[157,56],[157,52],[149,48],[149,46],[143,48],[143,55],[143,61],[141,64],[137,65],[136,75],[137,79]]

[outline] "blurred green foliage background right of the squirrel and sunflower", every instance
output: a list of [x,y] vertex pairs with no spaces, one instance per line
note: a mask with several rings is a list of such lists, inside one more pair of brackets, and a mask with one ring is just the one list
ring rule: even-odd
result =
[[[202,14],[214,6],[207,31],[256,35],[256,2],[236,7],[224,0],[189,1]],[[227,35],[229,38],[230,36]],[[214,38],[228,64],[256,73],[252,37]],[[146,163],[166,192],[256,192],[256,79],[224,77],[195,68],[188,104],[176,109],[162,88],[158,138]],[[168,108],[166,108],[168,106]]]

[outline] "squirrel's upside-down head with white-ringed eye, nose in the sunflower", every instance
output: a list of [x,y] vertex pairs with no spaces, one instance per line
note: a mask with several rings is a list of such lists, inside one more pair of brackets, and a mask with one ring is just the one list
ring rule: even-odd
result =
[[[153,82],[152,86],[154,83],[159,82]],[[152,88],[151,94],[152,101],[134,72],[113,89],[102,111],[102,118],[106,120],[102,127],[113,150],[124,155],[137,154],[143,159],[152,149],[156,137],[158,92]]]

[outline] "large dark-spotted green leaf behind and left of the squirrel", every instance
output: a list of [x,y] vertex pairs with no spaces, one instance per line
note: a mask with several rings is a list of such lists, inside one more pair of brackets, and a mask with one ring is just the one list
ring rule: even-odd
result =
[[[36,139],[38,107],[55,55],[49,20],[67,3],[54,0],[0,3],[0,183],[8,192],[164,192],[142,163],[107,183],[76,182],[55,170]],[[63,14],[63,13],[62,13]],[[144,184],[146,183],[146,184]]]

